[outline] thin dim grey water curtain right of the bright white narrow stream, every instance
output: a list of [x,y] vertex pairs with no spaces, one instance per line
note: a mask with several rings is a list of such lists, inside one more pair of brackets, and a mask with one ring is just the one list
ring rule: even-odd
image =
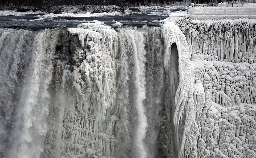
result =
[[146,131],[145,144],[147,146],[148,158],[160,155],[156,146],[159,144],[159,122],[164,107],[164,69],[162,56],[164,54],[161,39],[161,28],[146,28],[147,54],[146,54],[146,117],[148,127]]

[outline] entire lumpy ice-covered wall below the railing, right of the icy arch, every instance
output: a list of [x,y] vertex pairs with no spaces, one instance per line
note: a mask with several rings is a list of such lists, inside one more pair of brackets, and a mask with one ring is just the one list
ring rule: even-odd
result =
[[255,20],[180,18],[177,24],[194,71],[196,123],[185,138],[185,157],[256,157]]

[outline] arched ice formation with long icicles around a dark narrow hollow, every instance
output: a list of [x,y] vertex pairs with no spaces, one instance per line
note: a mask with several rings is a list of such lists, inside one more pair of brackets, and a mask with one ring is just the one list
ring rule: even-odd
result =
[[[165,156],[184,157],[185,141],[190,135],[191,127],[194,126],[195,109],[192,93],[191,65],[189,62],[190,53],[188,43],[184,34],[174,23],[164,24],[161,30],[162,38],[164,40],[164,70],[166,75],[166,98],[165,98],[165,115],[162,122],[162,134],[160,134],[160,141],[162,140],[162,150]],[[176,45],[178,51],[178,87],[176,87],[176,95],[174,101],[172,100],[173,79],[169,79],[175,71],[171,71],[172,50]],[[175,87],[175,86],[174,86]],[[190,106],[193,104],[192,106]],[[174,128],[173,128],[174,127]]]

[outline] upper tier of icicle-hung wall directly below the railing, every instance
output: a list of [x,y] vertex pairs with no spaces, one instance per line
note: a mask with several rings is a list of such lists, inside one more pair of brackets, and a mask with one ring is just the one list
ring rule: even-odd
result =
[[192,59],[243,63],[256,61],[256,20],[191,20],[177,22],[191,43]]

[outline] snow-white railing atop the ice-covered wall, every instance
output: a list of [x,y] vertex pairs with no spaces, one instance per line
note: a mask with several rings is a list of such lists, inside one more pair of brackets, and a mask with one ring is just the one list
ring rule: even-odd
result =
[[188,7],[190,15],[256,15],[256,7]]

